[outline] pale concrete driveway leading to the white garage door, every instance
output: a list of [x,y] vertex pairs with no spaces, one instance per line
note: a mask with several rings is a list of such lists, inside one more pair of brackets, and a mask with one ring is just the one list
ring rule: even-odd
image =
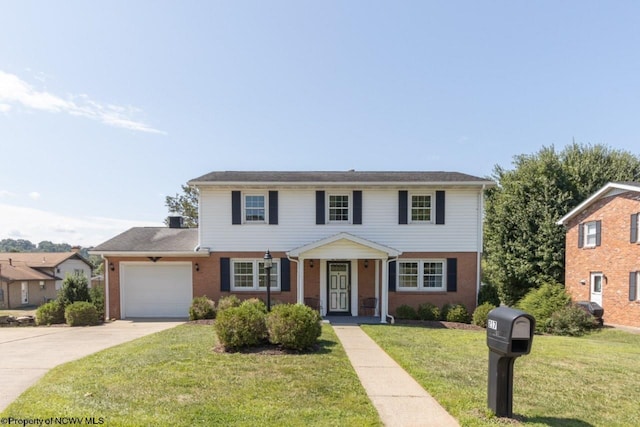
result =
[[116,320],[92,327],[0,328],[0,412],[51,368],[182,323]]

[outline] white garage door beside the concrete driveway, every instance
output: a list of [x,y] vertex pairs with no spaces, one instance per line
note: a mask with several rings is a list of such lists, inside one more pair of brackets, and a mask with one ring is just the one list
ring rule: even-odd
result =
[[191,263],[121,264],[122,317],[189,317]]

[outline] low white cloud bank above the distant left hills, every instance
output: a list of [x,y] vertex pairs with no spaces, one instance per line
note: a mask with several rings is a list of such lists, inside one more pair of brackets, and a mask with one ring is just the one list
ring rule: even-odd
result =
[[162,223],[103,217],[71,217],[40,209],[0,204],[0,239],[20,238],[38,244],[43,240],[91,247],[131,227]]

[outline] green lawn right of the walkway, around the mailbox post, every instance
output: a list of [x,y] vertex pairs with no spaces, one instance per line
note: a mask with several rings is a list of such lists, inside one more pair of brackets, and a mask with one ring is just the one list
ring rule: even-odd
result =
[[[487,408],[484,331],[363,326],[463,426],[510,423]],[[515,362],[513,412],[531,426],[640,425],[640,335],[535,336]]]

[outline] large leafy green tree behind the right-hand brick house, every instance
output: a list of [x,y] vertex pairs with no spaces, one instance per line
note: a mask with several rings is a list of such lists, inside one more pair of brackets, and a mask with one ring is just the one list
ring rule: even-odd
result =
[[640,159],[603,145],[543,147],[494,168],[486,193],[485,280],[512,305],[543,283],[564,282],[565,230],[556,221],[610,181],[640,179]]

